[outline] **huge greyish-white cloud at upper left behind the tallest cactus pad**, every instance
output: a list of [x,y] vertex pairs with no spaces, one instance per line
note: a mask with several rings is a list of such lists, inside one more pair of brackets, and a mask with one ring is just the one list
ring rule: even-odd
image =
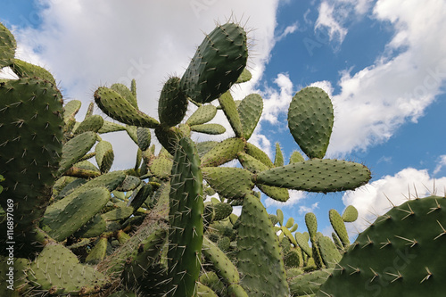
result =
[[[132,78],[136,78],[140,109],[158,118],[163,82],[170,75],[182,75],[196,45],[202,42],[202,32],[211,32],[215,21],[222,23],[232,17],[246,23],[250,31],[252,83],[239,87],[236,93],[249,94],[245,91],[260,79],[275,43],[278,0],[40,3],[46,7],[38,12],[41,25],[14,31],[18,56],[51,70],[65,98],[82,101],[79,120],[97,87],[128,84]],[[136,152],[128,153],[131,140],[127,136],[112,138],[116,166],[133,166]]]

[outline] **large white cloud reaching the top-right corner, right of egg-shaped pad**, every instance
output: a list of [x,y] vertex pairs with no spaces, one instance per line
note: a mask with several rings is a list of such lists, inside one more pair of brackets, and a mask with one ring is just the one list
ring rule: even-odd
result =
[[341,93],[333,97],[335,128],[328,153],[365,150],[388,140],[405,121],[417,121],[442,93],[445,10],[446,3],[436,0],[376,3],[374,17],[391,22],[395,35],[374,65],[353,74],[343,71]]

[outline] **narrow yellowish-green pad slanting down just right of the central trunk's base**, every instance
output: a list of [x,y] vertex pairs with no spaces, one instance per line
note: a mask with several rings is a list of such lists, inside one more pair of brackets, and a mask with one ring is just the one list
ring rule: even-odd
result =
[[202,254],[226,284],[238,284],[240,276],[238,275],[237,268],[227,258],[227,255],[206,236],[202,243]]

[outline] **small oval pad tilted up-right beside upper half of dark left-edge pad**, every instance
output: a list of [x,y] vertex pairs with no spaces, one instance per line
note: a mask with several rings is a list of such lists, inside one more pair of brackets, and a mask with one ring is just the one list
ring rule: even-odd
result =
[[95,132],[84,132],[72,139],[70,139],[62,147],[62,160],[59,168],[59,174],[70,169],[74,163],[78,162],[96,142]]

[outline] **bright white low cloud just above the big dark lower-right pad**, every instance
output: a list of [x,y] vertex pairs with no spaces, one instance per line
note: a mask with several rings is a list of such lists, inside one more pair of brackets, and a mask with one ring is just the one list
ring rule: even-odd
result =
[[[393,205],[400,205],[409,198],[425,197],[430,194],[444,195],[446,177],[434,179],[427,170],[402,169],[393,176],[384,176],[362,186],[360,190],[343,195],[345,205],[353,205],[359,212],[359,219],[347,224],[350,234],[364,230],[377,216],[383,215]],[[391,203],[392,202],[392,203]]]

